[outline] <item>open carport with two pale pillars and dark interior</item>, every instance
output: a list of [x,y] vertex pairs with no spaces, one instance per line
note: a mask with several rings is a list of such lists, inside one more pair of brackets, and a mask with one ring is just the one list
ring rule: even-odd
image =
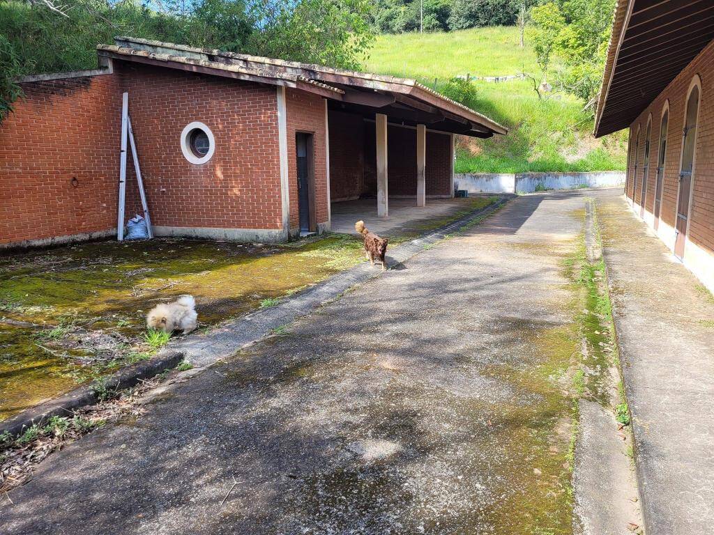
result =
[[[453,198],[454,136],[490,138],[506,128],[420,83],[365,73],[316,73],[344,91],[328,101],[331,209],[374,199],[386,218],[390,199],[425,207]],[[346,203],[343,205],[342,203]],[[443,205],[443,203],[441,203]],[[448,208],[444,208],[448,210]]]

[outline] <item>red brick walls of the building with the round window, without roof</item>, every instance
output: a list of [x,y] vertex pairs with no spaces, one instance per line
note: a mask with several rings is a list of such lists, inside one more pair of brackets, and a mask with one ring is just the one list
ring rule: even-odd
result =
[[[114,71],[24,83],[0,124],[0,247],[116,232],[121,94],[129,93],[157,235],[284,239],[276,86],[114,60]],[[313,134],[314,212],[328,228],[326,100],[286,88],[290,233],[299,227],[296,133]],[[215,138],[201,165],[181,151],[193,121]],[[331,111],[331,198],[376,195],[374,123]],[[391,195],[416,194],[416,131],[389,126]],[[451,193],[450,136],[427,133],[426,193]],[[125,220],[142,213],[131,151]]]

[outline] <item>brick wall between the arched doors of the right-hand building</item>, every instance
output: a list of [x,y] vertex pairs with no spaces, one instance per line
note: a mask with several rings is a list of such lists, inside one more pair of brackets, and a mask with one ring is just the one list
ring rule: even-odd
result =
[[[644,157],[643,139],[645,136],[645,128],[647,128],[647,118],[649,114],[652,113],[653,145],[650,149],[650,165],[645,197],[645,209],[651,212],[654,205],[660,118],[665,101],[669,99],[670,111],[661,218],[665,223],[670,225],[670,227],[674,227],[685,104],[687,91],[695,74],[700,76],[702,86],[699,103],[700,110],[695,148],[693,198],[692,204],[690,205],[690,230],[688,237],[694,243],[700,245],[700,247],[714,252],[714,42],[710,43],[686,66],[672,83],[655,98],[653,103],[640,114],[630,126],[630,133],[632,136],[636,136],[638,126],[640,126],[640,146],[638,148],[638,160],[640,165],[638,179],[641,179],[642,175],[640,170]],[[631,183],[634,157],[630,159],[628,183]],[[630,198],[632,197],[631,187],[628,189],[628,196],[630,196]],[[639,201],[639,194],[636,199]]]

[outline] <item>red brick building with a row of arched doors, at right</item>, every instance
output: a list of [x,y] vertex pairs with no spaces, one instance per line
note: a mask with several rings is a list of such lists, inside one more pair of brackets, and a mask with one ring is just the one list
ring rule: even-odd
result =
[[714,291],[714,3],[619,0],[595,136],[630,129],[625,195]]

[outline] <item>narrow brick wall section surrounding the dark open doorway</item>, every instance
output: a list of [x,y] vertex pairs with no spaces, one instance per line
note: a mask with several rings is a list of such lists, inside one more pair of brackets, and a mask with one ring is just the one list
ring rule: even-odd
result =
[[313,161],[315,163],[315,214],[317,223],[328,220],[327,206],[327,155],[325,133],[325,101],[321,96],[296,89],[286,89],[288,123],[288,180],[290,184],[290,228],[300,227],[298,203],[298,172],[295,152],[297,132],[313,134]]

